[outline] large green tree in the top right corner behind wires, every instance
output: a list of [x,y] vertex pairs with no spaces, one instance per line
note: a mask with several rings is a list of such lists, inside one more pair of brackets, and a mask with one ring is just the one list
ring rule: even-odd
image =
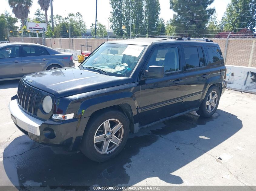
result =
[[221,19],[221,29],[234,32],[243,28],[252,30],[256,21],[255,9],[255,0],[231,0]]

